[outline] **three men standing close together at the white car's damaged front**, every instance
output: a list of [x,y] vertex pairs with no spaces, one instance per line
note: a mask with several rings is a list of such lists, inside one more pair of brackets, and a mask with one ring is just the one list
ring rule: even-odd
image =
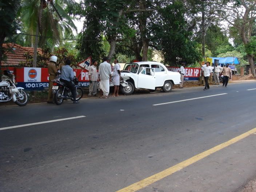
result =
[[92,65],[89,67],[89,94],[88,97],[98,96],[97,95],[97,82],[99,82],[99,97],[106,99],[109,96],[109,83],[112,81],[114,84],[113,97],[118,97],[119,85],[120,85],[120,64],[118,60],[114,60],[114,66],[111,64],[107,57],[103,58],[103,63],[99,65],[99,73],[97,77],[97,61],[93,61]]

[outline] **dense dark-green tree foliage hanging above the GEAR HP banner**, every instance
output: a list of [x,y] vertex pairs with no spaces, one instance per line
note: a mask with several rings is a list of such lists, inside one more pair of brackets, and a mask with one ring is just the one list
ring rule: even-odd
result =
[[188,30],[184,11],[183,4],[175,1],[161,9],[158,22],[152,24],[151,41],[156,49],[162,51],[166,64],[178,65],[180,61],[193,64],[201,61],[199,44],[191,40],[193,33]]

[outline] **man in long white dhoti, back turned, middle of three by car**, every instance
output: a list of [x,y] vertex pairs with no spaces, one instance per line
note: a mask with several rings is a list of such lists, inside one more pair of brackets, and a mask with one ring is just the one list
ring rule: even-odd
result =
[[[109,82],[111,81],[111,65],[107,62],[107,57],[103,58],[103,63],[99,66],[99,88],[100,98],[108,98]],[[103,96],[102,96],[103,94]]]

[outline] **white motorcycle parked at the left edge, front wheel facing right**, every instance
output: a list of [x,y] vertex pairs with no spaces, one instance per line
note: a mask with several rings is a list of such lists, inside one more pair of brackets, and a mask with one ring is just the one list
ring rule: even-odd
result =
[[12,100],[17,105],[27,105],[27,93],[23,91],[23,87],[16,87],[15,84],[15,76],[9,71],[5,70],[0,81],[0,103]]

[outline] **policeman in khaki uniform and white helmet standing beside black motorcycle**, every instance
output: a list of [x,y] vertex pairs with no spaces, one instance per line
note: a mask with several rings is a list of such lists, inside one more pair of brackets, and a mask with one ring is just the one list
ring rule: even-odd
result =
[[60,74],[57,71],[57,67],[56,67],[57,59],[58,58],[56,56],[51,56],[50,63],[48,64],[49,92],[48,92],[47,103],[53,103],[53,100],[52,100],[52,86],[53,86],[53,82],[52,82],[52,80],[56,79],[57,75]]

